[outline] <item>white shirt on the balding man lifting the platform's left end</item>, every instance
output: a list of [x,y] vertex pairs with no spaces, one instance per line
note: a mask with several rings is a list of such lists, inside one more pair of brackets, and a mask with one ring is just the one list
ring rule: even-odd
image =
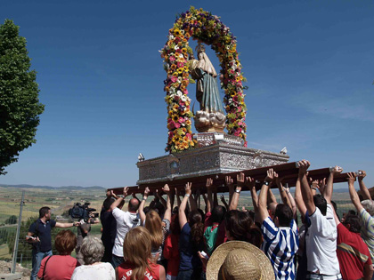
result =
[[138,213],[123,212],[117,207],[113,209],[112,214],[117,221],[117,234],[112,253],[118,257],[123,257],[125,236],[131,228],[140,226],[141,220]]

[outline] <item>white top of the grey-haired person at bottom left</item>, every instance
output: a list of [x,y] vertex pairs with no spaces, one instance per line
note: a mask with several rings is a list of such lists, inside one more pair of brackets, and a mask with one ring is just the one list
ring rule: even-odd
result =
[[109,262],[93,266],[80,266],[74,269],[71,280],[116,280],[116,271]]

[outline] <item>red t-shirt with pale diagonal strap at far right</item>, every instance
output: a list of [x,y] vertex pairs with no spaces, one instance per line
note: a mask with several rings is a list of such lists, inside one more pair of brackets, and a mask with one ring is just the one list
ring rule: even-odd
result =
[[337,259],[344,280],[363,277],[363,267],[371,265],[368,245],[359,233],[348,230],[342,223],[337,225]]

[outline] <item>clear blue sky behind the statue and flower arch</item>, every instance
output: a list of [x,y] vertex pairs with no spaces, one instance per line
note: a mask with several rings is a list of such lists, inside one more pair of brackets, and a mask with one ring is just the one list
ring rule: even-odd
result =
[[165,155],[158,51],[190,5],[238,38],[248,147],[287,146],[290,161],[313,169],[363,169],[374,186],[371,1],[1,1],[1,23],[14,20],[28,40],[45,113],[37,144],[0,184],[133,186],[139,152]]

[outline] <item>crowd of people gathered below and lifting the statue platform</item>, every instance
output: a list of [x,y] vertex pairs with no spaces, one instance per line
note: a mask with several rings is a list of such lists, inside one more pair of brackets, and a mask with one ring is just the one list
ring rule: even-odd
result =
[[[55,238],[59,255],[51,252],[51,228],[73,224],[61,226],[50,220],[49,210],[40,212],[38,228],[28,232],[37,233],[29,242],[39,244],[31,279],[36,274],[46,280],[372,279],[374,202],[363,182],[366,173],[348,173],[355,209],[340,218],[332,197],[334,176],[342,168],[335,166],[328,178],[313,180],[309,166],[306,160],[298,162],[294,195],[272,168],[259,193],[256,181],[244,173],[236,180],[226,176],[229,200],[221,196],[222,204],[212,179],[207,179],[203,195],[191,183],[184,191],[165,185],[148,206],[149,188],[142,200],[132,194],[126,206],[129,188],[123,196],[108,192],[102,204],[102,238],[85,236],[79,261],[70,255],[77,246],[70,230]],[[362,197],[354,189],[356,177]],[[281,204],[272,185],[280,191]],[[238,210],[244,187],[250,189],[253,211]],[[205,209],[199,209],[200,196]]]

